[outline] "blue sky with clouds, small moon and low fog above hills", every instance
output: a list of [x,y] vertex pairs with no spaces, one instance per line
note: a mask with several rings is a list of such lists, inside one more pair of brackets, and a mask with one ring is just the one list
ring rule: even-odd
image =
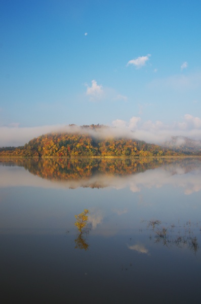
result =
[[69,124],[201,140],[199,0],[1,0],[0,147]]

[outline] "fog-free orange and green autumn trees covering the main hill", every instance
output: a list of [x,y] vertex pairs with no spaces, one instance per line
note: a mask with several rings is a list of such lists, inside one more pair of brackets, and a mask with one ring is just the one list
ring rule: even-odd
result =
[[29,141],[22,147],[2,148],[0,156],[9,157],[79,157],[79,156],[176,156],[168,148],[134,139],[97,139],[86,133],[50,133]]

